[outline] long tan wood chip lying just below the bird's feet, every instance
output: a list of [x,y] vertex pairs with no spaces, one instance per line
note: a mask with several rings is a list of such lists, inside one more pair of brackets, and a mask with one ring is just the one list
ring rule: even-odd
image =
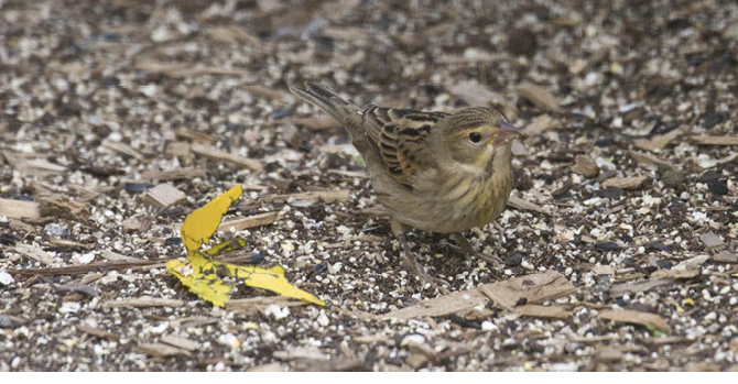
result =
[[[509,281],[484,284],[422,301],[409,308],[382,315],[383,319],[438,317],[486,306],[489,299],[500,307],[515,311],[518,304],[541,304],[576,292],[572,283],[555,271],[513,277]],[[535,309],[531,309],[535,310]],[[553,314],[556,309],[549,309]]]

